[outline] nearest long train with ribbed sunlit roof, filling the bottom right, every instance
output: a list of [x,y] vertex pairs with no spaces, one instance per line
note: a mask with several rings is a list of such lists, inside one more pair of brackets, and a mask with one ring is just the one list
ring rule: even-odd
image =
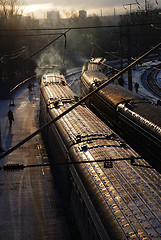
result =
[[[42,124],[75,101],[62,75],[42,77]],[[161,239],[160,174],[86,105],[43,134],[64,203],[82,239]]]

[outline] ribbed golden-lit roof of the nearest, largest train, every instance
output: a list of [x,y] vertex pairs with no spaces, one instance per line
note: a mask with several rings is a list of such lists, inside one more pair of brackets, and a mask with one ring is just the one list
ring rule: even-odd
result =
[[[67,86],[57,83],[46,86],[44,91],[47,99],[52,96],[65,98],[70,92]],[[49,111],[54,118],[69,106],[70,103],[66,102]],[[97,204],[97,210],[101,214],[104,210],[106,222],[110,221],[114,226],[117,222],[125,233],[124,239],[157,239],[161,233],[160,174],[142,158],[136,166],[125,161],[126,157],[139,155],[84,105],[65,115],[59,123],[57,128],[59,134],[65,136],[63,140],[70,156],[88,161],[83,166],[76,166],[84,185],[94,192],[93,202],[96,204],[97,198],[102,203]],[[103,162],[93,162],[106,157],[123,161],[116,161],[112,168],[105,168]],[[117,239],[123,239],[118,236],[118,229],[114,228],[113,232]]]

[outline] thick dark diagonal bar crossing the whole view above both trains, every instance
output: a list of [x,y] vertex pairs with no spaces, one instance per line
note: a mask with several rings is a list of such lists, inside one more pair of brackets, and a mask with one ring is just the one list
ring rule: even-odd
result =
[[24,140],[22,140],[21,142],[19,142],[18,144],[16,144],[15,146],[13,146],[12,148],[10,148],[8,151],[6,151],[5,153],[3,153],[0,156],[0,159],[3,159],[4,157],[6,157],[7,155],[9,155],[11,152],[13,152],[14,150],[16,150],[17,148],[19,148],[20,146],[22,146],[24,143],[26,143],[27,141],[29,141],[30,139],[32,139],[34,136],[36,136],[38,133],[40,133],[43,129],[45,129],[46,127],[49,127],[51,124],[55,123],[56,121],[58,121],[60,118],[62,118],[63,116],[65,116],[67,113],[69,113],[70,111],[72,111],[73,109],[75,109],[78,105],[80,105],[81,103],[85,102],[85,100],[87,100],[90,96],[94,95],[96,92],[98,92],[99,90],[101,90],[102,88],[104,88],[105,86],[107,86],[108,84],[112,83],[117,77],[121,76],[124,72],[126,72],[129,68],[131,68],[132,66],[134,66],[135,64],[137,64],[139,61],[141,61],[144,57],[146,57],[147,55],[149,55],[151,52],[153,52],[154,50],[156,50],[157,48],[159,48],[161,46],[161,42],[158,43],[155,47],[153,47],[152,49],[150,49],[148,52],[144,53],[141,57],[139,57],[138,59],[136,59],[135,61],[133,61],[131,64],[129,64],[127,67],[125,67],[124,69],[122,69],[120,72],[116,73],[114,76],[112,76],[110,79],[107,79],[106,82],[104,82],[103,84],[101,84],[99,87],[97,87],[95,90],[93,90],[92,92],[90,92],[89,94],[87,94],[85,97],[83,97],[81,100],[79,100],[78,102],[76,102],[75,104],[73,104],[73,106],[69,107],[66,111],[64,111],[63,113],[61,113],[59,116],[57,116],[56,118],[54,118],[53,120],[51,120],[50,122],[46,123],[44,126],[42,126],[41,128],[39,128],[38,130],[36,130],[35,132],[33,132],[31,135],[29,135],[28,137],[26,137]]

